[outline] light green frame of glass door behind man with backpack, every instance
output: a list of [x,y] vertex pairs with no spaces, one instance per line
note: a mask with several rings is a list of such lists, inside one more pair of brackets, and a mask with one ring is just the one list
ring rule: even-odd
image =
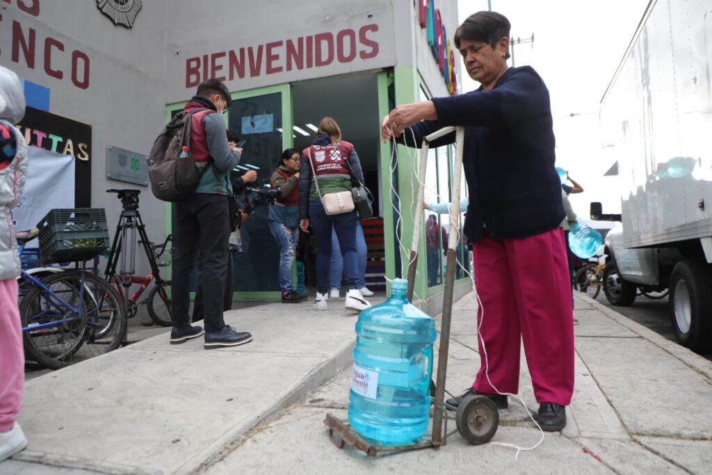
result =
[[[268,95],[268,94],[281,94],[282,100],[282,130],[287,131],[282,133],[282,150],[293,147],[294,138],[289,132],[293,127],[293,109],[292,109],[292,86],[289,83],[266,86],[264,88],[255,88],[248,90],[240,90],[231,93],[231,98],[236,99],[246,99],[253,98],[258,95]],[[172,103],[166,105],[166,122],[171,120],[171,115],[176,110],[183,110],[187,102],[182,103]],[[227,127],[227,117],[223,116],[225,120],[225,127]],[[165,232],[166,235],[172,232],[172,204],[166,203],[164,207],[164,219],[165,219]],[[166,279],[170,279],[172,276],[173,267],[168,266],[166,268]],[[195,293],[190,293],[190,298],[195,298]],[[233,292],[233,300],[279,300],[281,298],[281,292],[271,291],[271,292]]]

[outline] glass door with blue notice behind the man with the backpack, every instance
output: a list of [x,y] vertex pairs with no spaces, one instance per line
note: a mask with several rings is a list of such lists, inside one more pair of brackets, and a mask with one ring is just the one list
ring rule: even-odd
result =
[[[232,94],[227,128],[245,140],[235,175],[253,169],[257,181],[253,189],[269,187],[269,178],[283,150],[292,147],[292,99],[290,85],[241,91]],[[231,252],[234,261],[234,299],[280,298],[279,249],[267,226],[268,200],[249,192],[254,211],[241,226],[241,252]]]

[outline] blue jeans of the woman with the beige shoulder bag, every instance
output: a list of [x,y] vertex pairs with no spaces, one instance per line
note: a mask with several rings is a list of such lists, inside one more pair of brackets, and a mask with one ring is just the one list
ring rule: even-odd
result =
[[336,231],[339,249],[344,261],[344,281],[351,290],[358,287],[356,254],[356,212],[333,214],[324,212],[321,202],[309,203],[309,221],[316,239],[316,288],[319,293],[329,291],[329,267],[331,263],[331,233]]

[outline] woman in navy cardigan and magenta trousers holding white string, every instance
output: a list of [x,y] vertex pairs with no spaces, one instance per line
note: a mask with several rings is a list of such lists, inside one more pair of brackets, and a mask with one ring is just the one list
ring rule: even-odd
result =
[[[507,407],[506,394],[518,392],[521,338],[540,403],[539,422],[544,430],[557,431],[566,425],[574,385],[571,289],[559,227],[566,214],[554,166],[549,92],[533,68],[507,66],[509,31],[508,19],[495,12],[466,19],[455,45],[481,87],[399,105],[384,118],[381,132],[384,141],[419,147],[423,137],[442,127],[465,128],[470,203],[464,231],[474,243],[482,302],[481,367],[472,387],[446,406],[454,409],[464,397],[481,394]],[[430,146],[454,140],[452,132]]]

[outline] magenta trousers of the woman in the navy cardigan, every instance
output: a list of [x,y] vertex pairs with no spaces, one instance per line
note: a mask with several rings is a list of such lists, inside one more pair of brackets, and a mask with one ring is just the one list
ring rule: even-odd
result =
[[504,241],[486,238],[474,245],[481,300],[477,311],[481,367],[474,390],[496,393],[494,385],[499,392],[518,392],[521,339],[537,402],[565,406],[571,402],[573,311],[562,232],[557,228]]

